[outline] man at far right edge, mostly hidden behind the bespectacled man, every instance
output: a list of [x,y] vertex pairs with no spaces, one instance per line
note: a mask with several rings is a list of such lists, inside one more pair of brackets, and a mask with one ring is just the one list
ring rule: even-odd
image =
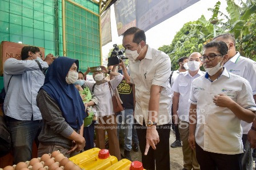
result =
[[[213,38],[213,41],[223,41],[227,44],[227,46],[229,47],[229,52],[227,52],[227,54],[229,55],[229,60],[227,60],[227,62],[224,64],[224,67],[227,69],[228,72],[239,75],[242,78],[248,80],[251,88],[253,88],[253,97],[255,101],[256,62],[254,60],[241,56],[239,52],[235,50],[235,38],[229,33],[218,35],[217,37]],[[250,142],[247,140],[247,137],[251,134],[250,138],[252,140],[255,140],[251,142],[251,147],[256,147],[254,146],[256,143],[256,131],[251,129],[252,123],[246,123],[244,121],[241,121],[241,125],[243,128],[243,148],[245,149],[242,158],[242,168],[245,170],[249,170],[253,169],[253,156],[252,149],[250,148]],[[253,127],[256,127],[256,121]],[[249,131],[250,133],[248,133]],[[249,134],[248,136],[247,133]]]

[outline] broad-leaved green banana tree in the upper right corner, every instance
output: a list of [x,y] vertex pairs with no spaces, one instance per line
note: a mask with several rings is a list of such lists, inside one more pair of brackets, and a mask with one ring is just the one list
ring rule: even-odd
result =
[[224,19],[219,20],[217,25],[224,32],[234,34],[237,49],[242,55],[256,58],[255,27],[252,26],[255,25],[256,0],[247,0],[246,2],[240,0],[238,2],[237,4],[233,0],[226,0],[228,15],[219,11],[219,2],[217,2],[214,9],[209,9],[213,13],[210,20],[222,16]]

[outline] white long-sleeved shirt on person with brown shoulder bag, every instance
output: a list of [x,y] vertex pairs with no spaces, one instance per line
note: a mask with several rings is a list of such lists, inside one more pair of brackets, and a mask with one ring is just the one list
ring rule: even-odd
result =
[[[115,90],[117,88],[118,84],[122,81],[123,76],[121,74],[114,76],[114,79],[110,80],[110,84],[112,88]],[[85,81],[85,86],[89,87],[91,91],[93,91],[93,85],[95,83]],[[109,116],[114,115],[113,110],[113,103],[112,103],[112,96],[114,94],[114,91],[111,89],[110,94],[110,88],[109,83],[102,83],[99,85],[95,85],[94,95],[98,98],[98,103],[95,106],[98,116]]]

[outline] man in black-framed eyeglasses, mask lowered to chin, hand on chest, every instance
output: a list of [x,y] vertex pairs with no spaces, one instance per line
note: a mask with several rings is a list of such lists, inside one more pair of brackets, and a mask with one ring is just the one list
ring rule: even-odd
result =
[[202,170],[242,169],[240,122],[255,118],[249,82],[223,67],[227,50],[222,41],[205,44],[201,60],[207,72],[191,85],[189,143]]

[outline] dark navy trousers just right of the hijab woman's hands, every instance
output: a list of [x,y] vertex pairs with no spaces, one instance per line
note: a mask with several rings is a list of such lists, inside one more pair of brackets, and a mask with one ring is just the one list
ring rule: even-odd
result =
[[85,151],[94,148],[94,122],[90,126],[83,128],[83,137],[85,137]]

